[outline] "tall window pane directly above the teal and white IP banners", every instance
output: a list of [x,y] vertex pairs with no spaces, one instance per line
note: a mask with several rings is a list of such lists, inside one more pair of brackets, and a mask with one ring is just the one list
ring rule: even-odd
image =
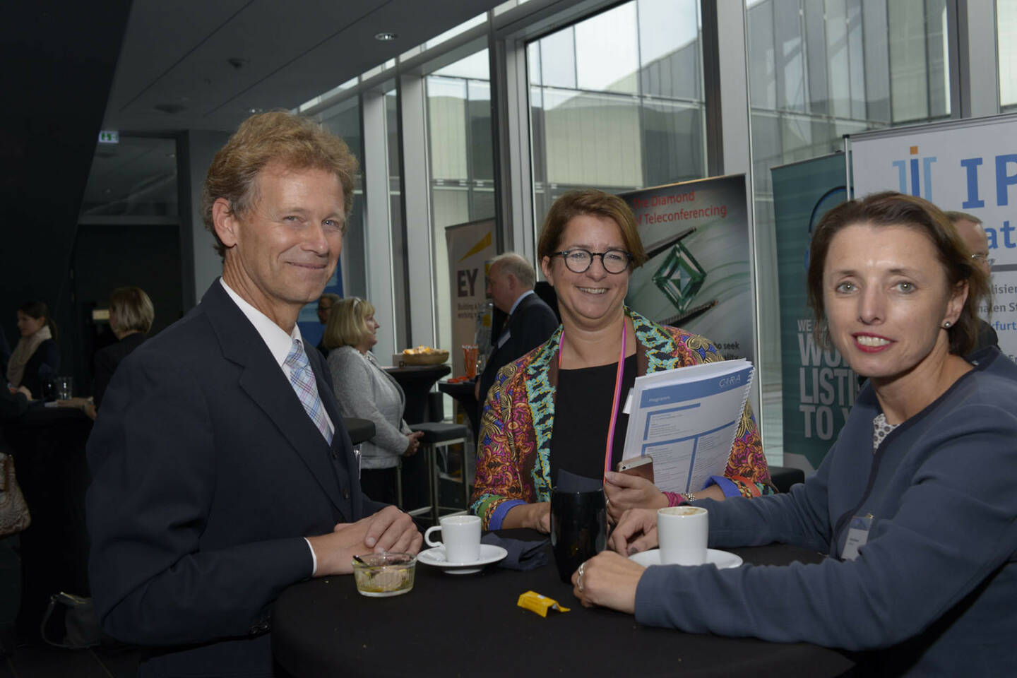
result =
[[[761,334],[775,326],[771,168],[842,149],[844,134],[950,116],[946,0],[749,0]],[[758,357],[767,453],[781,447],[779,345]],[[774,406],[774,407],[769,407]]]

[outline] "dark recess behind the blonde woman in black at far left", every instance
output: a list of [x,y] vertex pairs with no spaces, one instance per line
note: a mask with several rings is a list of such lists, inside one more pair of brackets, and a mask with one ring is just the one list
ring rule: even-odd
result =
[[[61,370],[73,374],[81,394],[88,394],[93,354],[107,325],[92,324],[92,310],[109,306],[110,292],[133,285],[144,290],[156,307],[149,336],[180,319],[180,233],[176,225],[80,226],[74,245],[74,315],[81,336],[74,364]],[[67,342],[70,344],[70,342]]]

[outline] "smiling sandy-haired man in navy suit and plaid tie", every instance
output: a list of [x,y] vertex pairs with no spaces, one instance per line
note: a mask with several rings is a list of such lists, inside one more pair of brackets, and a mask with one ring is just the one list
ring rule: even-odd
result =
[[342,247],[357,162],[316,123],[252,116],[202,195],[223,276],[121,363],[88,440],[89,574],[100,622],[162,645],[141,676],[273,674],[273,601],[420,548],[360,490],[359,459],[300,309]]

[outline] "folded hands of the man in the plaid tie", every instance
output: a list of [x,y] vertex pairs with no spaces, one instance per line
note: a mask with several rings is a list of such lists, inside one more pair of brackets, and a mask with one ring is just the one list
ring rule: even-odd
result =
[[314,576],[327,576],[352,572],[355,555],[382,551],[416,554],[423,537],[409,514],[385,506],[356,522],[339,522],[331,535],[308,537],[307,541],[317,559]]

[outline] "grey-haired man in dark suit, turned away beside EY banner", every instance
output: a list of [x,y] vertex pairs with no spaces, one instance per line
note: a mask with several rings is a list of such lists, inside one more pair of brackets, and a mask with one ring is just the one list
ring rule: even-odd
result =
[[536,279],[530,262],[515,252],[499,254],[488,267],[487,294],[508,317],[477,381],[475,395],[481,412],[498,370],[546,342],[558,326],[554,311],[533,292]]

